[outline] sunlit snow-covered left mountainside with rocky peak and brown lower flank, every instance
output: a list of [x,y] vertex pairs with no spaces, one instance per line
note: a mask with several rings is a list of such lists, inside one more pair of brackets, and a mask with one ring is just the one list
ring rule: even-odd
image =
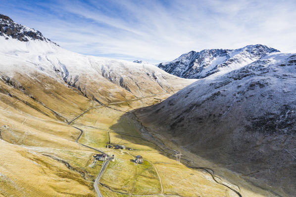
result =
[[[0,16],[0,25],[0,78],[35,99],[37,88],[29,88],[28,81],[39,84],[40,91],[44,88],[57,91],[60,87],[58,94],[65,92],[64,88],[74,88],[87,99],[100,103],[172,92],[193,82],[170,75],[154,65],[65,50],[39,31],[17,24],[4,15]],[[45,100],[40,102],[45,103]]]

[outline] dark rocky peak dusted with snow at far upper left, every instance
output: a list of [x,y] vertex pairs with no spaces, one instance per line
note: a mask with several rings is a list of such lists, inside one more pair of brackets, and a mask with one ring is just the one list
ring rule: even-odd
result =
[[5,39],[18,39],[25,42],[30,39],[52,42],[50,39],[45,38],[41,32],[15,23],[11,18],[3,14],[0,14],[0,36],[5,37]]

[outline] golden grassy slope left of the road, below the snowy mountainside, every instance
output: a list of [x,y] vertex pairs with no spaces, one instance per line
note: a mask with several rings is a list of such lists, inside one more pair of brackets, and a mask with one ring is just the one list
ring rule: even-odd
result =
[[[80,102],[77,106],[82,109],[79,109],[71,99],[62,100],[50,89],[42,93],[43,87],[33,88],[30,81],[27,84],[35,88],[34,96],[18,89],[13,82],[7,85],[0,80],[0,194],[15,197],[95,197],[91,181],[100,167],[93,172],[88,169],[91,175],[86,178],[82,175],[94,152],[75,143],[80,132],[67,125],[62,117],[82,112],[91,102],[75,91],[67,90],[66,86],[60,86],[61,92],[70,91],[64,94],[72,94],[72,99]],[[58,88],[57,85],[56,91]],[[65,114],[55,112],[66,108]],[[73,110],[70,111],[70,108]],[[61,151],[56,149],[62,149],[64,153],[59,154]],[[73,151],[86,154],[77,159],[79,157]]]

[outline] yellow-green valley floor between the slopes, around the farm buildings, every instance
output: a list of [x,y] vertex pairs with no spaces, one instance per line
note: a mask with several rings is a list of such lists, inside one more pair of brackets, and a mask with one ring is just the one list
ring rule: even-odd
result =
[[[217,177],[212,169],[190,166],[193,158],[185,156],[178,164],[173,155],[175,151],[152,136],[131,112],[147,105],[151,103],[138,99],[96,108],[74,122],[75,126],[86,131],[81,141],[89,146],[99,148],[109,143],[133,149],[102,149],[116,158],[115,162],[110,162],[99,182],[100,191],[105,196],[242,197],[239,186]],[[100,121],[99,117],[108,118],[110,122]],[[132,162],[136,155],[145,158],[143,164]],[[245,192],[248,193],[247,190]]]

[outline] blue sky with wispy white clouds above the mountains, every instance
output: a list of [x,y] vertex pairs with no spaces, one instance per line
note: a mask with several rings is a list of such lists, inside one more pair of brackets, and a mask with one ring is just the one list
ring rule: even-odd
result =
[[1,0],[0,13],[63,48],[150,63],[265,44],[296,52],[296,0]]

